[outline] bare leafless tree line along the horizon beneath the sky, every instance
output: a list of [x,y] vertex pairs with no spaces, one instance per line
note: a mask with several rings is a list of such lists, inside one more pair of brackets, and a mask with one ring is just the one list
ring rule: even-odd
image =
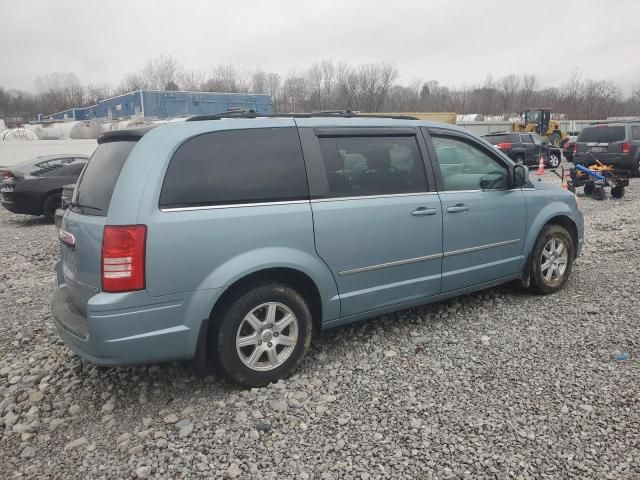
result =
[[640,86],[630,96],[611,81],[572,73],[565,83],[542,85],[534,74],[489,75],[476,85],[448,86],[437,80],[399,82],[388,63],[349,65],[323,60],[287,75],[219,65],[209,72],[187,70],[171,56],[149,60],[120,84],[83,84],[74,73],[50,73],[36,79],[35,91],[0,87],[0,118],[14,123],[93,105],[137,89],[224,93],[267,93],[276,112],[350,109],[362,112],[456,112],[506,117],[531,106],[550,107],[567,119],[640,116]]

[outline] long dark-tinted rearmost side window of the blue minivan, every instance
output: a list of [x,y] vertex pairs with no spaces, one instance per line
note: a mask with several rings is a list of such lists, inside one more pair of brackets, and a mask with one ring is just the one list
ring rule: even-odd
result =
[[161,207],[308,198],[295,128],[230,130],[188,140],[171,159]]

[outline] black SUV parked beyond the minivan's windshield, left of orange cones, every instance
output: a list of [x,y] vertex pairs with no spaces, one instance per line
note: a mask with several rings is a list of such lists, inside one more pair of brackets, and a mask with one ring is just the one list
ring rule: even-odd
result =
[[516,163],[538,165],[541,155],[546,167],[556,168],[562,161],[560,147],[545,142],[537,133],[497,132],[484,138]]

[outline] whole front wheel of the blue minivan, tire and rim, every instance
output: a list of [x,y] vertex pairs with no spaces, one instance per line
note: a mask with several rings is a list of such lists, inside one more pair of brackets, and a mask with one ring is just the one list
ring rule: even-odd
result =
[[569,278],[574,259],[573,240],[559,225],[545,226],[533,247],[531,285],[543,294],[561,290]]

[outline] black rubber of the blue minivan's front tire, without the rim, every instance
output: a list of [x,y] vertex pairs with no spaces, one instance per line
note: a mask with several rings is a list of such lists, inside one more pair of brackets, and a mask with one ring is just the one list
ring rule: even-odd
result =
[[[567,252],[567,259],[566,267],[562,275],[558,278],[547,280],[544,275],[547,271],[542,268],[545,262],[543,250],[551,240],[563,243]],[[573,259],[575,257],[575,247],[569,232],[560,225],[545,225],[536,239],[531,255],[531,288],[535,292],[543,295],[548,295],[561,290],[567,283],[569,275],[571,274],[571,267],[573,266]]]

